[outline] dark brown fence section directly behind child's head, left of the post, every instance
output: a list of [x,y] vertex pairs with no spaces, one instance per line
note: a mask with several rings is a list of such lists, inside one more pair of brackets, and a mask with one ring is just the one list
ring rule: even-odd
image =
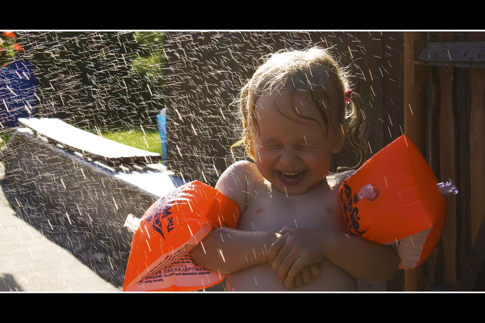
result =
[[[167,32],[168,164],[190,180],[214,185],[232,164],[229,147],[240,135],[231,103],[259,59],[314,45],[332,47],[350,66],[352,90],[366,105],[370,157],[404,132],[403,40],[402,32]],[[344,149],[332,169],[359,159]]]

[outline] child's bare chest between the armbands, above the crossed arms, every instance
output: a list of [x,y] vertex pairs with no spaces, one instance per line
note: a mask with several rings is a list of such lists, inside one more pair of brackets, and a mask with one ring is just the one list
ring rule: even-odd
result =
[[240,230],[278,232],[284,226],[344,230],[335,192],[317,188],[302,195],[287,196],[268,188],[258,185],[252,190],[239,221]]

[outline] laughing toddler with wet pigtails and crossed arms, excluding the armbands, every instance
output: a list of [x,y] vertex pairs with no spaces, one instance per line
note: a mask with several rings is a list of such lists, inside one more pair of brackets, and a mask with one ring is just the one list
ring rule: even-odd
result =
[[318,47],[275,53],[242,88],[235,145],[254,163],[234,163],[216,185],[241,208],[238,230],[214,229],[192,252],[228,274],[227,291],[355,291],[357,279],[393,276],[390,247],[345,233],[338,190],[353,170],[329,172],[346,137],[359,165],[365,155],[361,99],[347,88]]

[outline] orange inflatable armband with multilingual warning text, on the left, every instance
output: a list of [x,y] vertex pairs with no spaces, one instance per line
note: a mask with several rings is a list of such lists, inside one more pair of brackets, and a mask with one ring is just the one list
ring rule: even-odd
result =
[[237,229],[240,214],[236,202],[194,181],[157,200],[141,219],[129,217],[125,226],[134,233],[123,291],[196,291],[221,282],[225,275],[195,265],[190,251],[212,228]]

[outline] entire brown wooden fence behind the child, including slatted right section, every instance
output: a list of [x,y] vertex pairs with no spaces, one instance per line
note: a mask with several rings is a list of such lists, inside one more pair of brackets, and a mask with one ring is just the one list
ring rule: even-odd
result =
[[[215,185],[238,136],[231,102],[257,59],[285,47],[333,46],[352,66],[353,90],[366,104],[367,157],[405,132],[436,177],[459,189],[447,198],[447,224],[432,257],[399,271],[388,290],[485,290],[482,40],[483,32],[168,32],[168,165]],[[333,167],[357,161],[344,151]]]

